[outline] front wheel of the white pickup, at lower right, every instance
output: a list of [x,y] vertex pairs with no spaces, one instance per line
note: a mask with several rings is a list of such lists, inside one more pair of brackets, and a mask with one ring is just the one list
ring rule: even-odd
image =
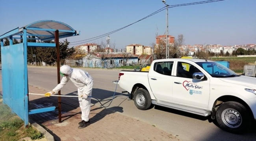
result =
[[241,134],[250,128],[250,111],[241,103],[229,101],[219,106],[216,111],[216,120],[224,131]]

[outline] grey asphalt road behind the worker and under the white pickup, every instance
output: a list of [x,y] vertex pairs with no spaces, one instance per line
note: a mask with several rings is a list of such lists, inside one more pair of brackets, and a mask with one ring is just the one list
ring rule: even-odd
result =
[[[28,83],[45,90],[52,90],[57,84],[56,67],[28,67]],[[85,69],[94,78],[93,97],[101,99],[105,106],[109,105],[115,91],[120,70]],[[0,74],[2,75],[2,73]],[[71,82],[61,90],[61,94],[76,93],[77,89]],[[256,128],[243,135],[230,134],[219,129],[207,117],[201,117],[177,110],[154,107],[150,110],[139,110],[134,101],[129,100],[128,94],[117,86],[115,98],[108,108],[120,111],[121,114],[144,121],[165,132],[176,136],[181,141],[255,141]],[[92,100],[100,106],[98,101]],[[119,107],[119,108],[117,108]],[[143,130],[143,127],[141,127]]]

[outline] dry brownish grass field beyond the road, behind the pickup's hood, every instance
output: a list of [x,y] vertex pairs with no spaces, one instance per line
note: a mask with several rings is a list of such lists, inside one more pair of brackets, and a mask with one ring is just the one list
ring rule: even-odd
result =
[[229,61],[229,67],[232,71],[237,73],[243,73],[244,66],[249,63],[254,63],[256,57],[220,57],[220,58],[210,58],[212,61]]

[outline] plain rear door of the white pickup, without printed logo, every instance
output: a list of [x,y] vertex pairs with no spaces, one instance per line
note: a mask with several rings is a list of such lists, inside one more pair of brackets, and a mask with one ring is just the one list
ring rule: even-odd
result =
[[154,96],[163,101],[172,101],[173,61],[156,62],[148,72],[148,81]]

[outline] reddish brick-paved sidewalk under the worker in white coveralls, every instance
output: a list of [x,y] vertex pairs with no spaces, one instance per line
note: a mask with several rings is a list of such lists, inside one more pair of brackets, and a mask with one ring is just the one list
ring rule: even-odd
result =
[[[31,93],[44,94],[46,90],[29,86]],[[178,141],[153,125],[119,114],[118,111],[91,106],[88,127],[78,129],[81,111],[77,98],[61,98],[62,122],[59,123],[58,110],[32,114],[37,123],[45,126],[56,141]],[[58,106],[58,98],[30,95],[30,109]]]

